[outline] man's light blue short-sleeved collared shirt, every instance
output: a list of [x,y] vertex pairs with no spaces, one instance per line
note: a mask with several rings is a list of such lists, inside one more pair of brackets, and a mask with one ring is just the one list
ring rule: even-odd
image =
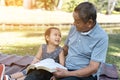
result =
[[105,62],[108,35],[97,23],[86,33],[77,31],[76,27],[72,26],[65,45],[69,48],[65,66],[77,70],[88,66],[90,60]]

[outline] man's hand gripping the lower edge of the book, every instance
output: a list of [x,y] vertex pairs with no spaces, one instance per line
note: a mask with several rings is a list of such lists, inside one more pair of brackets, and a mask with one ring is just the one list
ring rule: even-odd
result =
[[65,70],[65,69],[61,69],[61,68],[56,68],[56,72],[54,72],[54,76],[57,78],[63,78],[63,77],[67,77],[69,74],[69,71]]

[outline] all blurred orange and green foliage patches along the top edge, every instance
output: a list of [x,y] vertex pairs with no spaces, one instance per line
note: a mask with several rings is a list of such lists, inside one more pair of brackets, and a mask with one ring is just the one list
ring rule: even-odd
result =
[[[24,0],[5,0],[7,6],[22,6]],[[45,10],[55,10],[59,0],[36,0],[35,7]],[[72,12],[76,5],[86,0],[63,0],[62,10],[67,12]],[[106,13],[108,0],[88,0],[92,2],[98,12]],[[117,0],[116,8],[120,8],[120,0]],[[113,14],[115,12],[112,12]]]

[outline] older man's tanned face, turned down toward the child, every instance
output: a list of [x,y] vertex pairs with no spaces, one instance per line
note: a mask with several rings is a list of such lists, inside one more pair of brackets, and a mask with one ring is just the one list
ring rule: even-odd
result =
[[90,30],[88,22],[83,22],[82,19],[79,18],[79,15],[77,12],[73,13],[74,18],[74,25],[76,26],[76,29],[80,32],[87,32]]

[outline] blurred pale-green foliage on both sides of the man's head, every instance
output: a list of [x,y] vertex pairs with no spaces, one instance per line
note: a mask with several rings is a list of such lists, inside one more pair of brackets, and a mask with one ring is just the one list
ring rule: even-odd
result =
[[[62,10],[72,12],[74,10],[74,7],[83,1],[86,0],[65,0],[62,6]],[[108,7],[108,0],[88,0],[88,1],[92,2],[96,6],[98,12],[102,13],[104,11],[104,13],[106,13]],[[115,7],[120,8],[120,0],[117,0],[117,4]],[[115,12],[113,11],[112,13],[114,14]]]

